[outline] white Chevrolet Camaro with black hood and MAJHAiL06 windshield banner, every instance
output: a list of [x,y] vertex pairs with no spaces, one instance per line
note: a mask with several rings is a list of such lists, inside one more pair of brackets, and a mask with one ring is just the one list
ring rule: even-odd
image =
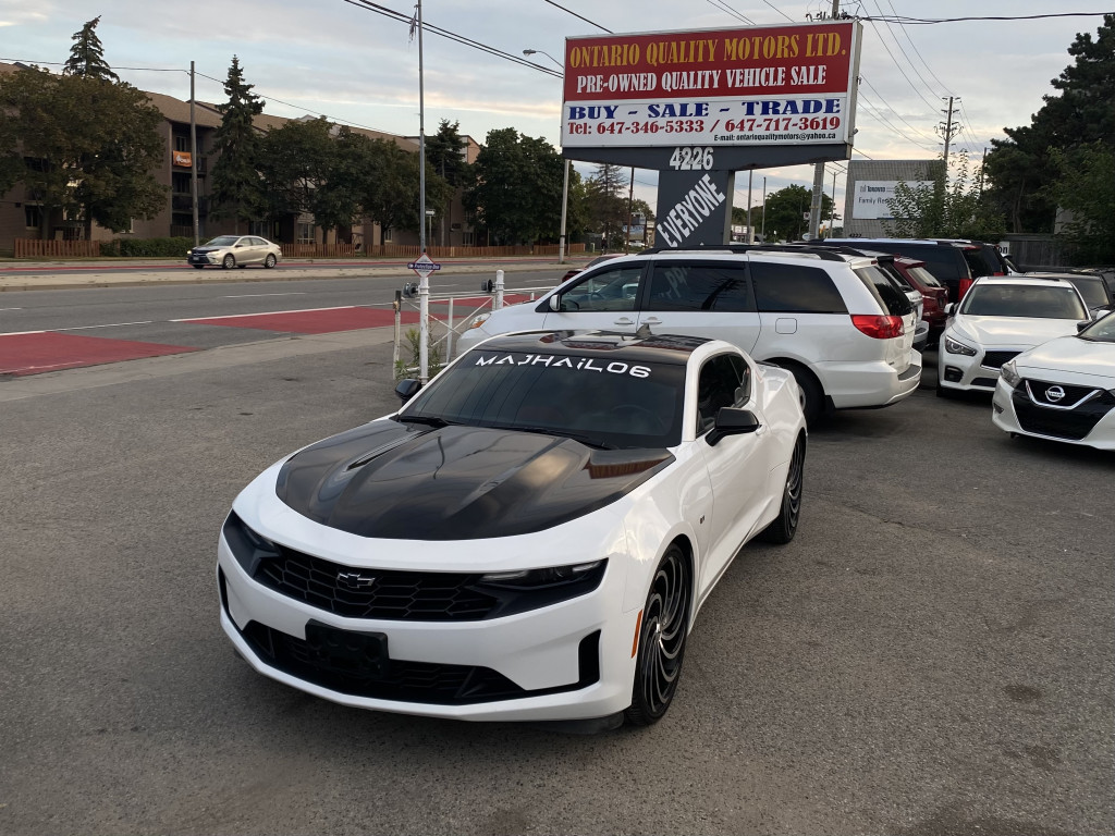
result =
[[658,720],[739,548],[797,529],[793,375],[716,340],[546,331],[418,389],[236,497],[217,548],[236,650],[347,706]]

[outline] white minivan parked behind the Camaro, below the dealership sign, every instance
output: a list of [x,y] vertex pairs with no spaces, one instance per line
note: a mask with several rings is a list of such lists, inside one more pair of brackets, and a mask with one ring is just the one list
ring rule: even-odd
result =
[[870,257],[831,251],[671,250],[613,259],[541,300],[474,318],[459,350],[510,331],[719,339],[794,373],[806,418],[884,407],[921,380],[917,312]]

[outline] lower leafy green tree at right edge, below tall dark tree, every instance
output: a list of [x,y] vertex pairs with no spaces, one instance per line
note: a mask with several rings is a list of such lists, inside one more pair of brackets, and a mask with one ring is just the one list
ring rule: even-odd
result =
[[1053,194],[1072,213],[1066,237],[1078,263],[1115,263],[1115,147],[1095,142],[1068,152],[1054,150],[1060,177]]

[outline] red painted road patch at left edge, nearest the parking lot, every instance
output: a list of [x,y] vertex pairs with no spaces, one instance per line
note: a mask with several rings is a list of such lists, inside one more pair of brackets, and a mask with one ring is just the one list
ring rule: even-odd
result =
[[184,346],[155,342],[108,340],[69,333],[0,334],[0,375],[39,375],[59,369],[77,369],[143,357],[182,354],[197,351]]

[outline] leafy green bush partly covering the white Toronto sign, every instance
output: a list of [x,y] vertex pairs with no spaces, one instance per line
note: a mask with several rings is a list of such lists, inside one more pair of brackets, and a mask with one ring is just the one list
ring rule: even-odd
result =
[[932,185],[899,183],[894,187],[894,197],[886,202],[893,220],[883,222],[888,235],[900,239],[989,239],[1002,234],[1002,216],[988,206],[972,182],[968,153],[961,150],[957,158],[960,163],[951,178],[942,161],[934,166]]

